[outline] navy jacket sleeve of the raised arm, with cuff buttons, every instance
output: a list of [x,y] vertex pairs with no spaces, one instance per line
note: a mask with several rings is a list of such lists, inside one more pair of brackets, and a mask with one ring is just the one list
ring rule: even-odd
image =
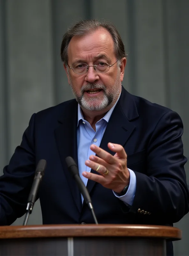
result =
[[136,192],[130,212],[145,223],[174,223],[189,211],[181,136],[183,124],[173,112],[163,114],[147,146],[147,172],[136,174]]

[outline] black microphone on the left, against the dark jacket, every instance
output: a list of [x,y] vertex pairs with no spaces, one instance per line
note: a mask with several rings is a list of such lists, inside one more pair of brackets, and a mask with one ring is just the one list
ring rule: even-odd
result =
[[29,214],[32,213],[35,199],[36,199],[36,196],[37,196],[37,193],[39,190],[39,185],[42,181],[46,165],[47,165],[47,162],[44,159],[41,159],[37,164],[37,167],[35,170],[34,181],[33,181],[32,188],[30,190],[30,194],[29,194],[28,200],[27,200],[28,203],[27,203],[27,207],[26,207],[26,216],[25,216],[25,220],[23,223],[24,226],[26,226],[26,224],[27,224]]

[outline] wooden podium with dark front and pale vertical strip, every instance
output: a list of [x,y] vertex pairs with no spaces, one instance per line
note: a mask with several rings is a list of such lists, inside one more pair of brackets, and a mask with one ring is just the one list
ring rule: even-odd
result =
[[149,225],[41,225],[0,227],[2,256],[166,255],[178,228]]

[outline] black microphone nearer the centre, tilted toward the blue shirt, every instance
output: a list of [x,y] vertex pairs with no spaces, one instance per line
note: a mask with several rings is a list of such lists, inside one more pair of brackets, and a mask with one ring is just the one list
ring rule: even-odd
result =
[[91,213],[94,218],[94,222],[96,224],[98,224],[98,221],[97,221],[95,213],[94,213],[93,205],[91,202],[91,198],[89,196],[89,192],[79,176],[79,170],[78,170],[77,164],[75,163],[75,161],[73,160],[73,158],[71,156],[67,156],[65,160],[66,160],[66,164],[68,166],[68,170],[71,172],[72,177],[75,179],[75,181],[78,184],[79,190],[84,198],[85,203],[88,205],[89,209],[91,210]]

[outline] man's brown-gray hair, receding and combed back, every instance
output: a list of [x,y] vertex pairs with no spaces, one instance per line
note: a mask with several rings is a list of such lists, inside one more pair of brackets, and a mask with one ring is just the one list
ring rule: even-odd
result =
[[99,28],[105,28],[112,36],[118,63],[120,59],[127,57],[121,36],[112,23],[108,21],[99,21],[96,19],[82,20],[77,22],[72,28],[69,28],[63,36],[60,56],[65,65],[68,62],[68,45],[72,37],[86,36],[87,34],[92,33]]

